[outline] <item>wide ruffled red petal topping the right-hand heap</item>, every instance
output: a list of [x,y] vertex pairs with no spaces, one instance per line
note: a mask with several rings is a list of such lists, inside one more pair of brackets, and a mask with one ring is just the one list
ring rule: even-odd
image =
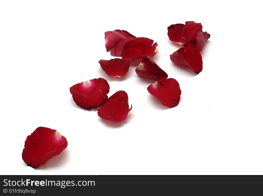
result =
[[198,31],[202,30],[201,23],[193,21],[185,22],[184,24],[175,24],[168,27],[168,37],[172,42],[180,45],[186,44],[191,40],[196,40]]

